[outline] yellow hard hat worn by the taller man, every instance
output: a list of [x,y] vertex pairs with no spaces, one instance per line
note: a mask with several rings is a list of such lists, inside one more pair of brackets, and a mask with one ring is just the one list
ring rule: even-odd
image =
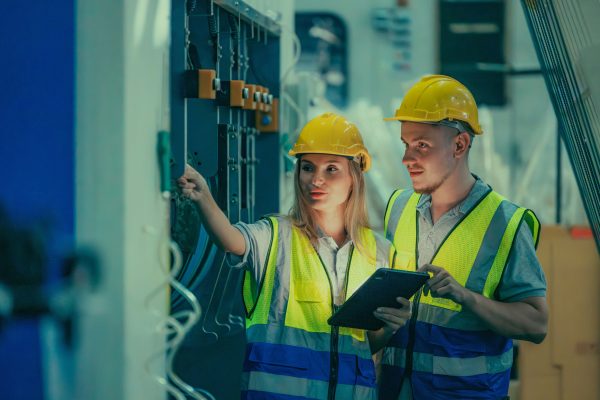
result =
[[396,115],[386,121],[436,123],[444,120],[469,124],[472,133],[481,135],[477,104],[462,83],[446,75],[427,75],[404,96]]

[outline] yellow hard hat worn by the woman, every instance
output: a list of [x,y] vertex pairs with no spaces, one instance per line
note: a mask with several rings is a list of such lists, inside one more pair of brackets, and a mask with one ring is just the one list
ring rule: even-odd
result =
[[371,156],[356,125],[334,113],[321,114],[304,125],[288,154],[297,156],[307,153],[352,158],[363,172],[371,167]]

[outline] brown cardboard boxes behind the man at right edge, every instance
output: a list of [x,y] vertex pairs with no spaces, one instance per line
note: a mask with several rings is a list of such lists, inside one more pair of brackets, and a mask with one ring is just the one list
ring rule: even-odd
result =
[[519,343],[520,400],[600,399],[600,257],[592,238],[544,226],[538,257],[550,322],[540,344]]

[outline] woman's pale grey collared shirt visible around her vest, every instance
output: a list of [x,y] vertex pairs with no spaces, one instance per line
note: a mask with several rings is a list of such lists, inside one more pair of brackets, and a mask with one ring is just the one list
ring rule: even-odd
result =
[[[280,246],[288,246],[292,234],[291,221],[287,218],[281,218],[279,223],[284,236],[280,238]],[[238,222],[234,226],[244,236],[246,252],[241,258],[230,254],[229,264],[234,268],[246,268],[252,272],[256,282],[260,283],[266,265],[269,244],[271,243],[271,224],[267,220],[261,219],[253,224]],[[338,246],[330,236],[323,232],[319,232],[319,234],[316,249],[331,278],[334,303],[340,305],[345,300],[343,288],[352,241],[348,239],[344,244]],[[392,244],[378,234],[375,234],[375,241],[377,245],[376,267],[389,267],[389,254]]]

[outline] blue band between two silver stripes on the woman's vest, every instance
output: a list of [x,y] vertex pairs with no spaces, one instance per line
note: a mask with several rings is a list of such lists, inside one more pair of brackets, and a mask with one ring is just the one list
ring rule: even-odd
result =
[[[274,375],[329,381],[330,353],[305,347],[271,343],[251,343],[246,347],[244,372],[261,371]],[[372,359],[338,354],[338,383],[375,387]]]

